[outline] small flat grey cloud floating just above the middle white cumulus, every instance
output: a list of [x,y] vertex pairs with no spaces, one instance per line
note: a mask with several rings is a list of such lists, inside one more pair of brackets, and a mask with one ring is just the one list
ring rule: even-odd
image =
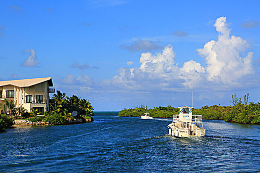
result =
[[131,45],[123,44],[120,45],[122,49],[128,49],[129,51],[152,51],[163,48],[160,41],[152,42],[147,40],[137,40]]

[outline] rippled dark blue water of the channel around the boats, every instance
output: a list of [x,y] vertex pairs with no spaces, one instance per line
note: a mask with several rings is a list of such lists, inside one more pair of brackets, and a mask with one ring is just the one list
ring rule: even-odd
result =
[[92,123],[0,133],[0,172],[260,172],[260,126],[204,120],[204,138],[167,135],[170,119],[98,113]]

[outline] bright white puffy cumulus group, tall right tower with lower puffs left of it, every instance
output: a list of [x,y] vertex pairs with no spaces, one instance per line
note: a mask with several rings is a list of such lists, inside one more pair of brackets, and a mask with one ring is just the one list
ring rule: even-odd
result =
[[245,88],[256,82],[253,52],[246,52],[250,44],[241,37],[230,36],[226,17],[216,19],[214,27],[219,33],[218,40],[197,49],[205,58],[205,67],[194,60],[179,67],[173,46],[168,44],[162,52],[141,53],[139,68],[121,68],[118,75],[106,82],[128,89],[144,90],[149,86],[159,90],[203,88],[216,91]]

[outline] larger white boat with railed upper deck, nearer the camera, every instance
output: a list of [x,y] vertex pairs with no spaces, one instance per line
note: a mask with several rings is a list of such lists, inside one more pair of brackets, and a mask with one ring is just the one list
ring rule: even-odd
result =
[[179,107],[180,114],[173,115],[173,122],[168,125],[169,134],[175,137],[204,137],[202,115],[193,115],[193,107]]

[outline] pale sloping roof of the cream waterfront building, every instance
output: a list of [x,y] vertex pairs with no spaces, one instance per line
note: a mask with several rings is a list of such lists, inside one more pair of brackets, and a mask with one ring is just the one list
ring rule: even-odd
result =
[[12,81],[0,81],[0,87],[1,86],[7,86],[7,85],[12,85],[12,86],[17,86],[17,87],[31,87],[36,84],[40,84],[43,82],[48,81],[49,86],[53,87],[53,82],[52,78],[35,78],[35,79],[21,79],[21,80],[12,80]]

